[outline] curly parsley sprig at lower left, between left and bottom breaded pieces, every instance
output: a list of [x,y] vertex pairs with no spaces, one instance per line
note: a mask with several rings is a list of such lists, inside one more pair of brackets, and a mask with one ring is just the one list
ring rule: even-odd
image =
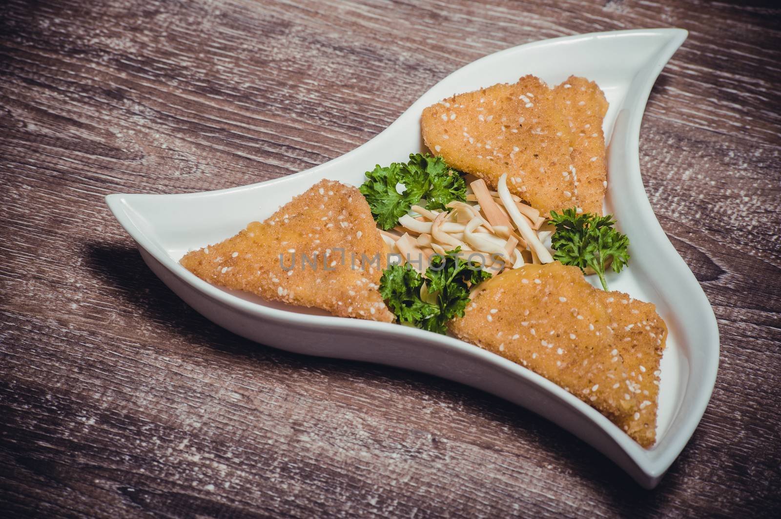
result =
[[[476,263],[459,258],[460,250],[457,247],[447,256],[433,256],[426,277],[409,263],[385,269],[380,278],[380,295],[399,323],[444,334],[449,320],[464,316],[469,287],[487,280],[491,274],[480,270]],[[421,288],[426,291],[426,301],[421,298]]]

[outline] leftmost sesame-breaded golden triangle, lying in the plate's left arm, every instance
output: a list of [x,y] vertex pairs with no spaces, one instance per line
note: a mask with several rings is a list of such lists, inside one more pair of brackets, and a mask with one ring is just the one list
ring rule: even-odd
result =
[[266,221],[188,252],[180,263],[205,281],[264,299],[391,323],[377,290],[384,256],[358,189],[322,180]]

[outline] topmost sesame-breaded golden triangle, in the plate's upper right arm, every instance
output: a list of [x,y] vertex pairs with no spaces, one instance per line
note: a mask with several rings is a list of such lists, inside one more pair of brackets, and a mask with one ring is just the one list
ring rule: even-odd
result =
[[[494,189],[501,175],[507,174],[508,189],[545,216],[551,210],[581,207],[579,191],[587,194],[589,210],[601,214],[605,187],[601,118],[602,103],[604,108],[607,103],[595,83],[580,78],[568,81],[574,79],[578,79],[579,97],[572,99],[570,90],[576,89],[566,87],[567,83],[551,89],[535,76],[449,97],[423,110],[423,141],[453,168],[483,178]],[[580,90],[583,86],[587,90]],[[569,108],[573,102],[577,109]],[[595,125],[598,130],[588,135],[597,132],[597,138],[580,136],[580,130]],[[597,161],[592,164],[594,154]],[[580,166],[581,172],[578,164],[584,162],[588,164]],[[600,166],[602,175],[592,181],[590,171]],[[588,186],[585,191],[583,183]]]

